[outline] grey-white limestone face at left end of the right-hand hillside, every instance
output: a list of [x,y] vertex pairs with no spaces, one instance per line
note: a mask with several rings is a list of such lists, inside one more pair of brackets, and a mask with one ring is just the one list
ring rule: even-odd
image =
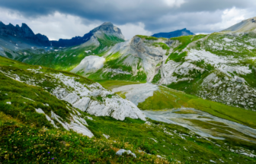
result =
[[160,46],[154,46],[154,44],[158,43],[167,45],[168,40],[149,40],[134,36],[133,39],[127,40],[124,43],[117,43],[104,56],[118,52],[121,54],[120,58],[126,58],[123,61],[123,65],[139,65],[139,62],[141,62],[140,65],[142,68],[140,70],[137,67],[133,68],[132,74],[136,75],[138,71],[145,71],[147,81],[150,82],[158,71],[158,65],[162,63],[164,55],[167,52],[166,49],[162,49]]

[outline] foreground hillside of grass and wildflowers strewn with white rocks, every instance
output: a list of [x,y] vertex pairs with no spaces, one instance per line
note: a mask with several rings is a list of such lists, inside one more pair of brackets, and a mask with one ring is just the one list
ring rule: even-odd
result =
[[[200,137],[180,125],[147,118],[125,118],[91,112],[94,102],[101,106],[120,101],[119,96],[101,89],[85,77],[51,68],[26,65],[8,58],[0,60],[0,161],[2,163],[254,163],[256,145],[227,137]],[[82,90],[68,85],[58,74],[75,78],[88,88],[91,103],[86,112],[63,95]],[[123,85],[123,84],[120,84]],[[56,92],[62,87],[66,93]],[[98,87],[98,88],[97,88]],[[58,89],[59,90],[59,89]],[[84,89],[85,90],[85,89]],[[89,92],[90,91],[90,92]],[[83,99],[86,96],[80,92]],[[93,96],[94,95],[94,96]],[[131,105],[130,105],[131,106]],[[123,108],[122,108],[123,109]],[[129,108],[126,108],[127,110]],[[98,109],[98,112],[104,113]],[[112,109],[114,113],[118,109]],[[139,112],[128,110],[130,113]],[[88,114],[91,112],[91,114]],[[98,116],[95,116],[98,115]],[[217,126],[216,126],[217,128]],[[120,149],[131,150],[136,157]]]

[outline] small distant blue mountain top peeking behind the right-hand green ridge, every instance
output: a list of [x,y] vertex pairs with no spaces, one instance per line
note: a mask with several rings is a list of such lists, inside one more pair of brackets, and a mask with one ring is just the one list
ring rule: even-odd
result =
[[154,37],[164,37],[164,38],[171,38],[171,37],[178,37],[178,36],[189,36],[189,35],[194,35],[194,33],[191,33],[190,30],[187,30],[186,28],[182,30],[175,30],[170,33],[155,33]]

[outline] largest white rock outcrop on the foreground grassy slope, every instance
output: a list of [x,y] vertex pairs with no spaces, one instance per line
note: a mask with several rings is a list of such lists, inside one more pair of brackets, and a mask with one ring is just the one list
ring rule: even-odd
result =
[[[57,87],[53,90],[53,94],[59,99],[65,99],[69,103],[72,103],[74,107],[82,111],[96,116],[111,116],[118,120],[124,120],[126,117],[130,117],[135,119],[140,118],[146,121],[146,116],[143,115],[137,106],[129,100],[122,99],[113,92],[104,89],[100,84],[94,83],[85,87],[85,84],[75,81],[75,77],[67,77],[64,74],[54,74],[54,77],[57,77],[66,87],[72,88],[74,91],[69,93],[66,89]],[[78,95],[82,98],[79,97],[77,99]],[[108,98],[106,97],[107,95],[113,96],[112,98]],[[90,96],[101,96],[103,102],[90,99]]]

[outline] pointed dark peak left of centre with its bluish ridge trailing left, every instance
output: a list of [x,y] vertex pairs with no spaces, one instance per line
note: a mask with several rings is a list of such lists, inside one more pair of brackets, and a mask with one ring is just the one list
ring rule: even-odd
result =
[[101,24],[101,26],[91,30],[89,33],[86,33],[84,36],[75,36],[72,39],[59,39],[59,41],[50,41],[50,43],[52,43],[52,46],[56,47],[77,46],[87,42],[89,39],[91,39],[91,36],[93,36],[94,33],[97,33],[98,31],[124,39],[123,34],[119,28],[114,27],[114,25],[110,22],[105,22],[104,24]]

